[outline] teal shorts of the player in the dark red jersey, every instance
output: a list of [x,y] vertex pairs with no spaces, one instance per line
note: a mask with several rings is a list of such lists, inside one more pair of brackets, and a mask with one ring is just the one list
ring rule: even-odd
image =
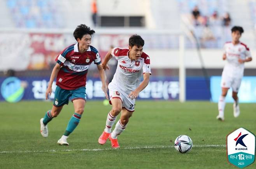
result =
[[86,88],[80,87],[75,90],[65,90],[56,86],[55,96],[53,105],[55,107],[60,107],[65,104],[68,104],[68,100],[75,100],[75,99],[84,99],[86,100]]

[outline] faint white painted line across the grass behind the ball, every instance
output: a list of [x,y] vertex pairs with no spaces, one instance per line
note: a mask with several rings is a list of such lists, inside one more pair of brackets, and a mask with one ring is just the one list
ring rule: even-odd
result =
[[[98,152],[106,150],[139,150],[139,149],[157,149],[157,148],[173,148],[174,146],[142,146],[142,147],[124,147],[124,148],[94,148],[94,149],[66,149],[66,150],[21,150],[21,151],[2,151],[4,153],[51,153],[51,152]],[[226,147],[226,145],[193,145],[193,147]]]

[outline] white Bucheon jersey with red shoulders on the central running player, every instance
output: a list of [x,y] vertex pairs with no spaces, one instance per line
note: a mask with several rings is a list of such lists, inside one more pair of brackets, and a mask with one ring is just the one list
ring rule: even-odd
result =
[[150,59],[146,53],[142,53],[138,60],[128,57],[129,49],[114,48],[111,55],[117,60],[117,68],[114,77],[109,83],[109,88],[119,88],[124,93],[130,94],[140,84],[142,73],[150,73]]

